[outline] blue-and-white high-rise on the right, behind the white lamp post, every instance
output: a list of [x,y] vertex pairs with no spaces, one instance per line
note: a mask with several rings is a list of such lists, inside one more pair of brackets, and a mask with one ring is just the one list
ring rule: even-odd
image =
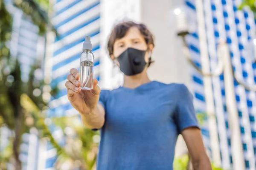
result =
[[[200,30],[205,32],[201,34],[195,31],[194,34],[187,36],[187,43],[190,48],[192,59],[197,62],[198,67],[202,67],[205,63],[200,59],[209,56],[210,69],[215,70],[218,62],[217,47],[221,39],[227,41],[230,50],[230,58],[236,79],[244,82],[250,87],[255,86],[255,21],[252,11],[248,9],[239,10],[241,0],[206,0],[204,3],[200,0],[186,0],[186,6],[194,13],[202,9],[204,18],[198,18],[197,22],[203,22]],[[200,9],[199,9],[200,8]],[[203,21],[202,21],[203,20]],[[203,28],[203,29],[202,29]],[[201,35],[199,35],[201,34]],[[203,45],[200,43],[204,43]],[[225,65],[224,65],[225,67]],[[193,90],[195,94],[195,107],[199,112],[207,111],[207,102],[209,102],[209,91],[204,93],[206,88],[205,79],[196,71],[192,72]],[[236,106],[238,110],[239,121],[232,122],[234,119],[227,111],[227,94],[224,89],[224,75],[212,77],[210,79],[213,92],[212,100],[215,109],[214,119],[217,127],[209,126],[209,117],[207,124],[202,126],[205,144],[211,152],[212,158],[217,156],[221,159],[221,166],[225,169],[238,169],[236,164],[244,164],[246,170],[255,170],[255,154],[256,154],[256,129],[255,129],[255,112],[256,112],[256,93],[248,91],[243,85],[239,85],[234,81]],[[228,81],[228,80],[226,80]],[[211,97],[210,97],[211,98]],[[207,101],[208,100],[208,101]],[[210,104],[211,105],[211,104]],[[208,105],[209,106],[209,105]],[[234,106],[234,107],[236,107]],[[211,118],[210,118],[211,119]],[[239,124],[239,131],[232,129],[233,123]],[[213,130],[213,131],[212,131]],[[216,130],[216,131],[214,131]],[[214,150],[215,144],[211,144],[212,133],[216,133],[218,148]],[[241,150],[243,155],[236,154],[236,149],[232,148],[232,133],[241,136]],[[213,135],[214,136],[214,135]],[[237,142],[237,141],[236,141]],[[216,155],[217,154],[217,155]],[[234,162],[238,160],[237,156],[241,156],[241,163]],[[243,162],[244,161],[244,162]],[[233,166],[234,165],[234,166]]]

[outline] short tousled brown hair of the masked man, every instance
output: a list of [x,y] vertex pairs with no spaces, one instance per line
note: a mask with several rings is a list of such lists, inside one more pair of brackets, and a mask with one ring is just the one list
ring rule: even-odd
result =
[[[125,36],[125,34],[127,33],[127,31],[131,28],[131,27],[136,27],[140,30],[140,34],[142,34],[142,36],[145,39],[145,42],[147,45],[154,45],[154,36],[153,34],[148,30],[148,28],[142,24],[142,23],[135,23],[133,21],[125,21],[122,23],[117,24],[111,34],[110,37],[108,39],[108,52],[109,55],[113,54],[113,50],[114,50],[114,43],[117,39],[120,39],[122,37]],[[148,60],[148,66],[152,63],[151,58],[149,58]]]

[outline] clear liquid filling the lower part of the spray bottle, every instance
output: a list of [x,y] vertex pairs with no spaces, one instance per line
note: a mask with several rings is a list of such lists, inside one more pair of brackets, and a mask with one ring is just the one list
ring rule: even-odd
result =
[[92,61],[82,61],[80,62],[80,82],[82,90],[93,89],[93,66]]

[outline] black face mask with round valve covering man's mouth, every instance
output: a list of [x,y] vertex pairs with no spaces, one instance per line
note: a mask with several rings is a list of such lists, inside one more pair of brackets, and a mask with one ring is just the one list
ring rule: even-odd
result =
[[145,62],[145,54],[146,51],[127,48],[116,58],[120,64],[120,70],[127,76],[140,74],[147,64]]

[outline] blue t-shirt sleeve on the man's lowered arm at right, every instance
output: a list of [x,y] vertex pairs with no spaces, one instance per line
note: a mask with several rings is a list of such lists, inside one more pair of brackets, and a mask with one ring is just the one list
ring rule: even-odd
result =
[[180,84],[179,86],[174,118],[178,132],[181,133],[187,127],[200,127],[195,115],[193,95],[186,85]]

